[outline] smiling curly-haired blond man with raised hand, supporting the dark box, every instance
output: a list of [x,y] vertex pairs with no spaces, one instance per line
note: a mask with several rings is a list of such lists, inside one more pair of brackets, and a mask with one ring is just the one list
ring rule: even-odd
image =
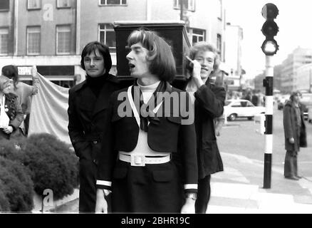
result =
[[[194,101],[194,123],[197,134],[197,162],[199,171],[196,213],[205,214],[210,199],[210,177],[223,171],[222,158],[217,146],[214,120],[222,117],[226,92],[223,87],[210,83],[218,71],[217,49],[209,43],[196,43],[187,59],[189,81],[186,90]],[[222,120],[222,118],[221,118]]]

